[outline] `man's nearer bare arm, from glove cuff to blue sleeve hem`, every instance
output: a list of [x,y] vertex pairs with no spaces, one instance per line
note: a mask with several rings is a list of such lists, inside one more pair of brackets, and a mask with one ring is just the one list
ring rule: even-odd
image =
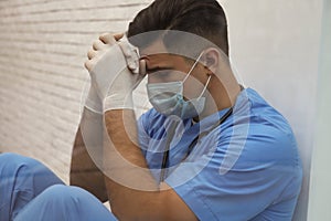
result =
[[109,110],[105,124],[111,141],[104,146],[105,181],[111,211],[119,220],[196,220],[174,190],[156,183],[136,145],[134,112]]

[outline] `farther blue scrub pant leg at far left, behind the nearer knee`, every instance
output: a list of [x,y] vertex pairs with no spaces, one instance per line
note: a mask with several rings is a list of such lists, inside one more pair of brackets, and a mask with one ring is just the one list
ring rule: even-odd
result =
[[38,194],[64,185],[41,162],[15,154],[0,155],[0,220],[13,218]]

